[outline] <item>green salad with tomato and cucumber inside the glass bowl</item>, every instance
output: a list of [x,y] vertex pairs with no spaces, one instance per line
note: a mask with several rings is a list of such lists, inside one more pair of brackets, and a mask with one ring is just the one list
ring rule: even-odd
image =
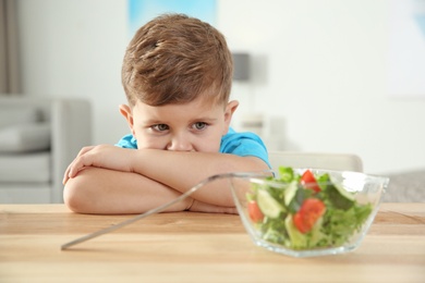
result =
[[247,211],[263,239],[292,249],[336,247],[359,231],[372,212],[329,174],[280,168],[279,186],[255,184]]

